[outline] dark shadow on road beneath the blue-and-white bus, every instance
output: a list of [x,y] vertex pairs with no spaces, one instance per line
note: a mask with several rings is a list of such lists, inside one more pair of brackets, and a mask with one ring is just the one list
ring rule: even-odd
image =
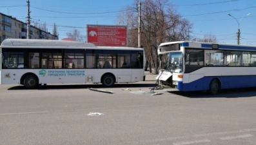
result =
[[175,95],[181,95],[183,97],[190,98],[240,98],[240,97],[256,97],[256,88],[236,88],[221,90],[217,95],[210,95],[208,92],[169,92]]

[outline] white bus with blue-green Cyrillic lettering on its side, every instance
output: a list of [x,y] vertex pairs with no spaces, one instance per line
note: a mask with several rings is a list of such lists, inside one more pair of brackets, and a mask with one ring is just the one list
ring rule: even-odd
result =
[[60,40],[5,39],[1,84],[114,83],[144,81],[144,49]]

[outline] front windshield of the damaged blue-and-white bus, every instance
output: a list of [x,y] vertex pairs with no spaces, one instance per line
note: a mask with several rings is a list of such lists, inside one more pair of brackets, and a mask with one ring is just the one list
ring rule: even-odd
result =
[[171,52],[161,55],[163,68],[170,72],[183,72],[183,61],[181,52]]

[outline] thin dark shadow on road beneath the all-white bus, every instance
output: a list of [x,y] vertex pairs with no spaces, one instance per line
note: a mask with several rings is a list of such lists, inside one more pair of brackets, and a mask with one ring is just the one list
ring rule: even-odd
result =
[[[155,84],[115,84],[111,88],[153,88]],[[85,88],[104,88],[101,84],[60,84],[40,86],[33,90],[64,90],[64,89],[85,89]],[[14,86],[8,90],[27,90],[24,86]]]

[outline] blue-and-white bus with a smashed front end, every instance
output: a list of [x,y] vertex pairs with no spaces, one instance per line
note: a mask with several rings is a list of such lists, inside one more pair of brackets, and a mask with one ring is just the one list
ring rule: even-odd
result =
[[256,46],[179,41],[158,47],[159,86],[208,91],[256,86]]

